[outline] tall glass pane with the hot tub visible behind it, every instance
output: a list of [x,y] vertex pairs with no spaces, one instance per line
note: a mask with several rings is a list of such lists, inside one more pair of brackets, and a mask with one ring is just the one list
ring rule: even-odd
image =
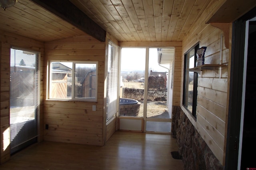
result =
[[122,48],[120,116],[143,117],[146,48]]

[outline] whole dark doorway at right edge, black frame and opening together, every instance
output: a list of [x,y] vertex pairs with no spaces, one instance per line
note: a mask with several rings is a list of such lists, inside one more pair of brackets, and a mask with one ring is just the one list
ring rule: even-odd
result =
[[[256,149],[256,93],[253,89],[255,87],[254,73],[256,73],[256,67],[254,62],[256,59],[254,52],[256,48],[255,40],[252,41],[252,39],[255,39],[255,36],[253,38],[252,35],[255,34],[256,30],[255,16],[256,8],[253,8],[236,20],[232,28],[225,170],[256,168],[254,156]],[[248,72],[248,75],[246,72]]]

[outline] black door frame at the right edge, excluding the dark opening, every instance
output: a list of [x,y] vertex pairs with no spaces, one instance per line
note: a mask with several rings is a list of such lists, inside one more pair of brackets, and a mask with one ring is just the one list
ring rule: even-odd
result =
[[226,158],[225,170],[238,169],[239,144],[244,82],[244,50],[246,38],[246,21],[256,16],[256,8],[253,8],[233,22],[232,26],[232,49],[230,62],[230,91],[227,121]]

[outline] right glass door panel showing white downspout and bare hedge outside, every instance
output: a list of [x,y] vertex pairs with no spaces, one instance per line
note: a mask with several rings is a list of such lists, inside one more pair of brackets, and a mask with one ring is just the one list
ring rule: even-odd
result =
[[149,48],[146,131],[170,132],[168,90],[173,48]]

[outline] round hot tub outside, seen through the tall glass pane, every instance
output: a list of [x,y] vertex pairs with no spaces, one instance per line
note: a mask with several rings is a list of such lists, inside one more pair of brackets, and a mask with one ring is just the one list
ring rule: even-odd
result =
[[120,98],[119,115],[137,116],[140,111],[140,102],[134,99]]

